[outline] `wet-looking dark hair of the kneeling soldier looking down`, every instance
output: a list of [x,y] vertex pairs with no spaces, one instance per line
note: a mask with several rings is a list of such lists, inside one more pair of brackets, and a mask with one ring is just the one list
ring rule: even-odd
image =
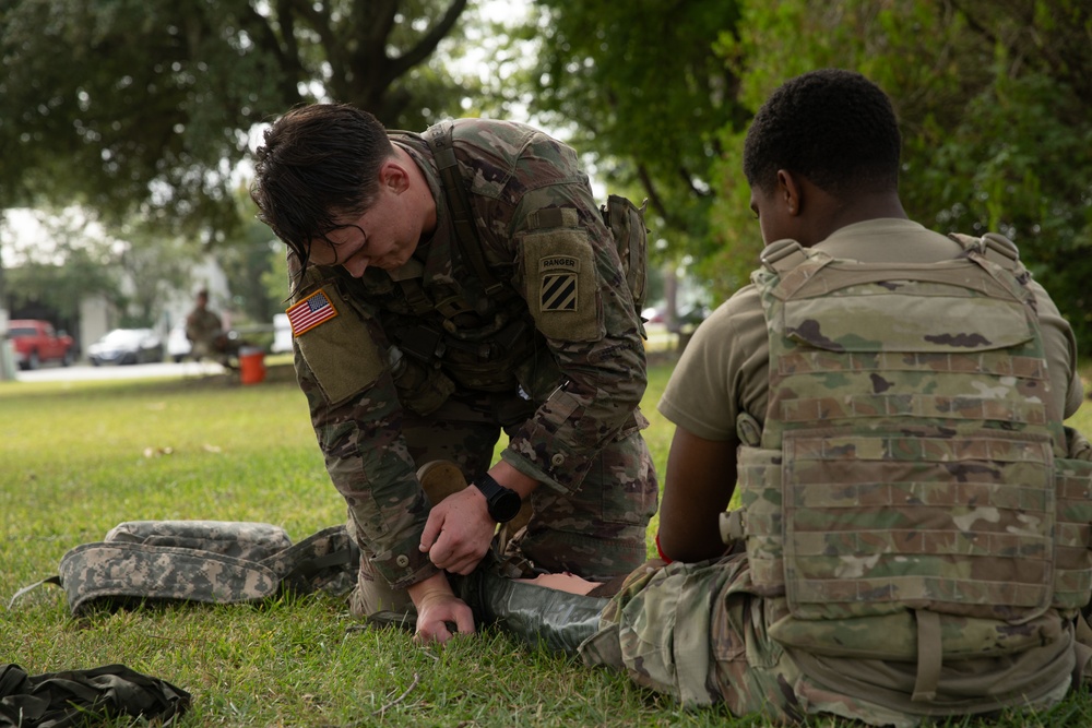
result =
[[348,104],[312,104],[273,122],[257,150],[250,198],[258,218],[307,267],[310,241],[359,217],[379,195],[394,154],[376,117]]

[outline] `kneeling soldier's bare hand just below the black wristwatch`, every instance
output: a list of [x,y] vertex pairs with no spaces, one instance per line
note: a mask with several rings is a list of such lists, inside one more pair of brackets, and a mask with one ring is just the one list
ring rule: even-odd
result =
[[489,550],[497,522],[489,517],[485,496],[464,488],[432,506],[420,536],[420,550],[444,571],[466,575]]

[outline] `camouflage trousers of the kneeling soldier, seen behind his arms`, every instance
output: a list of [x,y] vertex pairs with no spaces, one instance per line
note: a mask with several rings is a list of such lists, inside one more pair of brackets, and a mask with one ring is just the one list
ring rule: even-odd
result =
[[[418,466],[449,461],[472,481],[492,465],[501,432],[514,432],[534,410],[533,403],[514,395],[456,393],[427,417],[407,410],[403,434]],[[535,489],[530,509],[525,504],[525,513],[501,528],[501,556],[593,581],[625,575],[648,558],[646,533],[658,497],[652,455],[640,431],[633,431],[600,452],[574,493]],[[404,592],[391,590],[371,572],[367,558],[360,564],[354,613],[411,606]]]

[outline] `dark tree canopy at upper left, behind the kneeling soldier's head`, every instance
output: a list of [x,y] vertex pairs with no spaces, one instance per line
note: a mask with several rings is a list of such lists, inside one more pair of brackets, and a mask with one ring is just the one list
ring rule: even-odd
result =
[[0,208],[76,201],[205,231],[237,222],[248,130],[316,98],[388,124],[458,108],[425,63],[466,0],[5,0]]

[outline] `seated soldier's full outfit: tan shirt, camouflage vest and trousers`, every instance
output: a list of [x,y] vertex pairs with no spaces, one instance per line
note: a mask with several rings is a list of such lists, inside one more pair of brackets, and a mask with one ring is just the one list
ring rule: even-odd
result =
[[[985,274],[964,261],[954,287],[922,272],[937,266],[912,274],[961,247],[910,222],[764,256],[781,253],[795,260],[771,263],[779,277],[757,272],[702,325],[660,405],[743,445],[744,508],[722,530],[745,540],[720,561],[631,575],[585,660],[779,720],[915,726],[1057,703],[1089,657],[1073,619],[1092,575],[1092,463],[1061,427],[1081,402],[1068,325],[989,258]],[[975,281],[978,293],[940,299],[958,325],[917,327],[915,300]],[[824,293],[797,298],[809,284]]]

